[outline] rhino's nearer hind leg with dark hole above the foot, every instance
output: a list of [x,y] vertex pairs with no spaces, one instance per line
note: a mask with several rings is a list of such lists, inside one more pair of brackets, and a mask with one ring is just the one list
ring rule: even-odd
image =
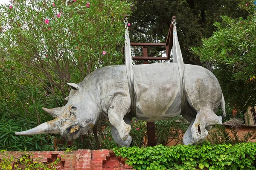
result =
[[204,108],[198,111],[195,122],[191,127],[192,138],[195,143],[200,144],[206,139],[208,132],[212,125],[219,122],[218,116],[212,109]]

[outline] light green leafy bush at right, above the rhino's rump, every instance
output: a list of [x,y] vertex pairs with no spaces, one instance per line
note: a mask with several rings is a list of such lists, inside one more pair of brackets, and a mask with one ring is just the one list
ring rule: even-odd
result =
[[[222,16],[215,32],[201,47],[191,48],[203,62],[209,61],[219,79],[227,103],[233,108],[254,106],[256,96],[256,3],[241,0],[239,9],[246,18]],[[247,5],[246,5],[247,4]],[[232,95],[230,95],[232,94]]]

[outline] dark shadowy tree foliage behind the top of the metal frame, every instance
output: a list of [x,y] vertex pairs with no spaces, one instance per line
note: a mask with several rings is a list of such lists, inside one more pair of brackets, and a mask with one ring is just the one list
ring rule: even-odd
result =
[[[131,42],[165,43],[172,16],[177,17],[177,32],[184,62],[201,65],[189,49],[201,45],[201,39],[212,35],[212,23],[221,21],[221,15],[244,17],[236,11],[240,0],[132,0]],[[164,47],[151,48],[148,56],[160,57]],[[142,49],[135,48],[136,56]]]

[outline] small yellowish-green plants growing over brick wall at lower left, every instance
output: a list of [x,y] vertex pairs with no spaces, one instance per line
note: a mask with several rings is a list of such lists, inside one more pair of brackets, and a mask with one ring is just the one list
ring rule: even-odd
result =
[[26,152],[15,161],[14,156],[9,157],[6,153],[2,153],[4,156],[2,156],[0,161],[1,170],[56,170],[60,162],[60,159],[57,158],[51,163],[44,164],[39,159],[38,161],[33,160],[32,155]]

